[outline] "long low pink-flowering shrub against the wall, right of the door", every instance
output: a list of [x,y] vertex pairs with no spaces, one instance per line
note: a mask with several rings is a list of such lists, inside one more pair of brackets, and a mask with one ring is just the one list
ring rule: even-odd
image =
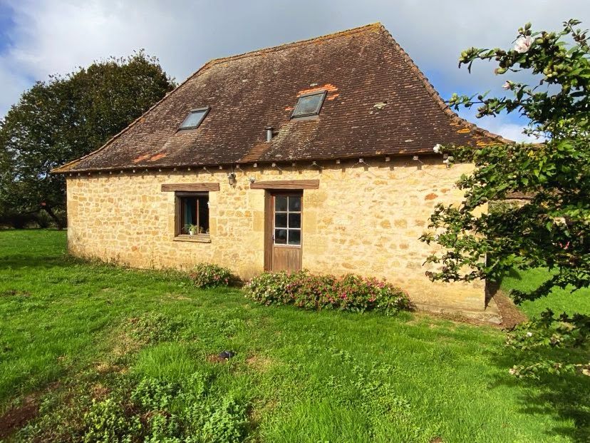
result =
[[264,273],[245,286],[247,297],[264,305],[295,305],[304,309],[332,308],[352,312],[378,310],[386,315],[412,308],[408,295],[385,280],[348,274],[312,275],[300,271],[288,275]]

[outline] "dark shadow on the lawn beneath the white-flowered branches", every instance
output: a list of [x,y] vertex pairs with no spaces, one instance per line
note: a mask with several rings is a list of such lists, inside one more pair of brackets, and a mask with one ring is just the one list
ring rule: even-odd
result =
[[[563,361],[563,353],[557,355],[547,350],[538,355],[539,361]],[[522,352],[504,348],[492,361],[505,374],[522,362]],[[573,442],[590,442],[590,377],[585,375],[544,375],[538,380],[516,378],[511,375],[499,376],[492,381],[492,387],[524,387],[519,403],[525,414],[551,416],[560,422],[571,422],[573,427],[547,429],[549,437],[566,437]]]

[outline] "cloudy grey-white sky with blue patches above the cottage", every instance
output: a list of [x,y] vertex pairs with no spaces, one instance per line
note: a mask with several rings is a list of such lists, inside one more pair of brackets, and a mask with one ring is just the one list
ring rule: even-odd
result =
[[[0,0],[0,116],[51,73],[145,49],[184,80],[210,58],[381,21],[441,93],[501,93],[505,77],[457,58],[470,46],[510,46],[519,26],[590,27],[589,0]],[[472,111],[461,115],[474,121]],[[477,121],[522,140],[517,116]]]

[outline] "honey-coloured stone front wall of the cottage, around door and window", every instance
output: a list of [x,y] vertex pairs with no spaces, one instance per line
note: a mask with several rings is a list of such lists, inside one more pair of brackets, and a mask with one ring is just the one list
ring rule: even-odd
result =
[[[256,180],[319,179],[304,190],[303,267],[316,273],[385,277],[424,305],[483,310],[482,282],[433,283],[425,258],[435,246],[418,237],[436,203],[458,203],[455,180],[472,166],[440,158],[398,158],[323,168],[244,167],[230,186],[227,170],[136,171],[68,176],[68,248],[74,255],[136,268],[191,268],[212,262],[247,279],[264,268],[264,190]],[[309,165],[309,163],[308,163]],[[175,240],[175,196],[162,183],[218,182],[209,193],[211,243]]]

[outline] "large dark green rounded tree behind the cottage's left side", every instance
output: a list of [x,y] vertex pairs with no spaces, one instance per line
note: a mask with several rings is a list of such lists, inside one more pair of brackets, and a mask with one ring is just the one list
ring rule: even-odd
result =
[[174,88],[157,58],[139,51],[36,82],[0,121],[0,212],[66,205],[56,166],[99,148]]

